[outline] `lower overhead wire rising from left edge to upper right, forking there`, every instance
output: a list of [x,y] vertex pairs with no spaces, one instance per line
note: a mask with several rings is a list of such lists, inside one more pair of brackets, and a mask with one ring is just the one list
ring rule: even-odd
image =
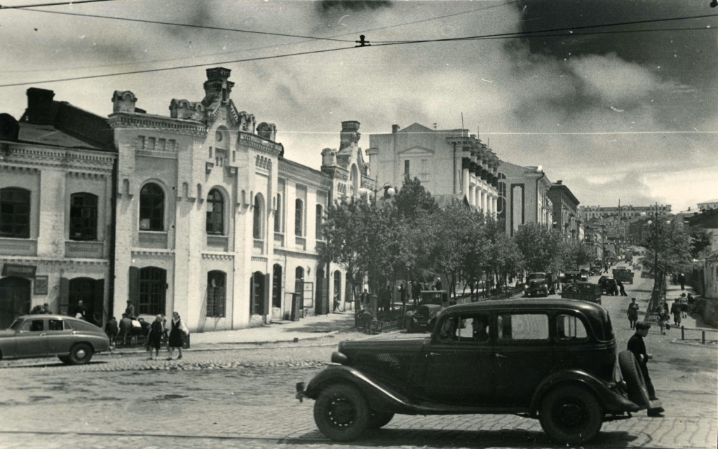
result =
[[[635,29],[635,30],[612,30],[612,31],[604,31],[604,32],[573,33],[573,31],[577,30],[577,29],[580,30],[580,29],[594,29],[597,27],[618,27],[618,26],[624,26],[625,24],[628,24],[628,23],[635,24],[636,22],[645,24],[645,23],[649,23],[649,22],[666,22],[666,21],[671,21],[671,20],[702,19],[702,18],[714,17],[714,16],[718,16],[718,14],[705,14],[705,15],[701,15],[701,16],[689,16],[689,17],[680,17],[680,18],[671,18],[671,19],[653,19],[651,21],[633,21],[633,22],[619,22],[619,23],[614,23],[614,24],[586,25],[586,26],[582,26],[582,27],[566,27],[566,28],[556,28],[556,29],[547,29],[547,30],[536,30],[533,32],[498,33],[498,34],[485,34],[485,35],[478,35],[478,36],[471,36],[471,37],[451,37],[451,38],[444,38],[444,39],[424,39],[424,40],[414,40],[414,41],[387,42],[387,43],[383,43],[383,44],[367,45],[365,47],[357,47],[357,46],[337,47],[337,48],[331,48],[331,49],[311,50],[311,51],[307,51],[307,52],[296,52],[296,53],[289,53],[289,54],[283,54],[283,55],[253,57],[253,58],[246,58],[243,60],[220,61],[220,62],[182,65],[182,66],[174,66],[174,67],[161,67],[161,68],[156,68],[156,69],[145,69],[145,70],[132,70],[132,71],[128,71],[128,72],[106,73],[106,74],[101,74],[101,75],[84,75],[84,76],[80,76],[80,77],[58,78],[55,80],[40,80],[40,81],[33,81],[33,82],[15,82],[15,83],[1,84],[0,88],[8,88],[8,87],[21,86],[21,85],[32,85],[32,84],[44,84],[44,83],[50,83],[50,82],[89,80],[89,79],[95,79],[95,78],[101,78],[101,77],[113,77],[113,76],[121,76],[121,75],[136,75],[136,74],[140,74],[140,73],[164,72],[164,71],[168,71],[168,70],[181,70],[181,69],[195,68],[195,67],[207,67],[210,65],[236,64],[239,62],[271,60],[271,59],[278,59],[281,57],[312,55],[315,53],[337,52],[337,51],[346,50],[346,49],[385,47],[388,45],[400,45],[400,44],[421,44],[421,43],[429,43],[429,42],[461,42],[461,41],[482,40],[482,39],[518,39],[518,38],[536,38],[536,37],[542,38],[542,37],[556,37],[556,36],[580,37],[580,36],[591,35],[591,34],[617,34],[617,33],[630,33],[630,32],[666,32],[666,31],[687,31],[687,30],[712,30],[712,28],[709,28],[709,27],[694,27],[694,28],[682,28],[682,29]],[[566,32],[566,31],[569,31],[570,34],[545,34],[545,33]],[[540,34],[540,33],[544,33],[544,34]]]

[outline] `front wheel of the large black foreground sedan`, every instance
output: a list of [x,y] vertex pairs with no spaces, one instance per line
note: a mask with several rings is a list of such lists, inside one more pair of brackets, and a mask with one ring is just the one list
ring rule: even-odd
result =
[[363,395],[350,385],[327,387],[314,402],[314,422],[330,440],[356,440],[367,429],[370,417]]

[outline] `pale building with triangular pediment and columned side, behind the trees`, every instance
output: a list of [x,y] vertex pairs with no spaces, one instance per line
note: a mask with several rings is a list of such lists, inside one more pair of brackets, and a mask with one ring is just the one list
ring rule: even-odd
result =
[[439,202],[456,198],[487,215],[498,212],[500,160],[468,130],[433,130],[414,123],[369,136],[370,173],[377,186],[401,188],[418,178]]

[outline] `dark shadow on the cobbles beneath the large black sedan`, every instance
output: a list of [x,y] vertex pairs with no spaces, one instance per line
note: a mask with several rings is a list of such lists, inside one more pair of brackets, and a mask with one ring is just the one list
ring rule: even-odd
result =
[[[316,445],[325,438],[318,430],[298,438],[286,440],[290,445]],[[582,448],[625,448],[638,437],[627,432],[601,432]],[[306,439],[306,441],[303,441]],[[329,442],[330,440],[327,440]],[[381,429],[365,433],[359,440],[348,443],[332,441],[332,445],[352,448],[396,448],[419,446],[423,448],[567,448],[551,442],[545,433],[532,430],[437,430],[437,429]],[[574,447],[574,446],[572,446]],[[575,447],[578,447],[575,446]]]

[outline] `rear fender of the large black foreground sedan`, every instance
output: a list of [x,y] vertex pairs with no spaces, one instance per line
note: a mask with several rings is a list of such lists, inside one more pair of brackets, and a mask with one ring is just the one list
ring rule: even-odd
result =
[[599,404],[607,412],[637,412],[641,409],[639,405],[630,402],[623,394],[591,374],[580,369],[566,369],[550,374],[538,385],[531,399],[531,413],[538,412],[538,408],[541,407],[541,399],[549,389],[561,384],[582,384],[587,387],[595,394]]

